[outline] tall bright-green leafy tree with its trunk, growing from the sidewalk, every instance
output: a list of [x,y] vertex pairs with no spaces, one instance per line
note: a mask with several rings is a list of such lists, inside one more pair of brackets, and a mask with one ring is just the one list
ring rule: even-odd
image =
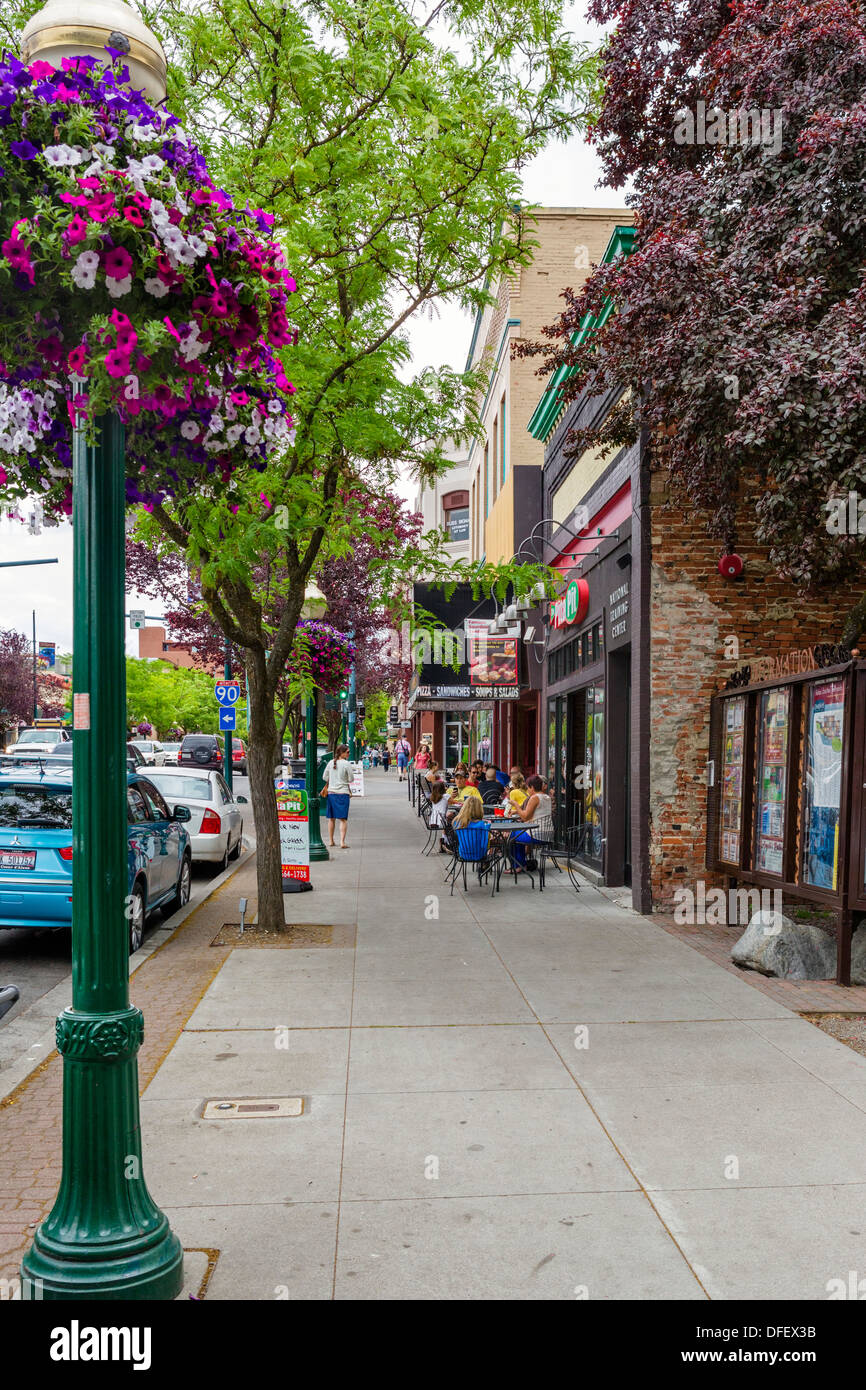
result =
[[[297,388],[293,449],[256,484],[235,474],[221,503],[154,509],[220,630],[246,652],[259,920],[270,930],[284,924],[274,699],[304,589],[366,524],[343,499],[381,492],[400,467],[441,471],[442,441],[478,430],[478,378],[411,375],[407,328],[439,302],[477,310],[491,282],[531,259],[521,165],[588,124],[595,96],[595,58],[569,35],[563,3],[142,4],[168,54],[170,108],[214,177],[274,214],[299,282],[299,336],[285,357]],[[279,575],[277,621],[270,580],[256,578],[263,559]],[[464,577],[435,548],[407,546],[392,566],[398,588],[416,566]],[[516,574],[477,580],[505,589]]]

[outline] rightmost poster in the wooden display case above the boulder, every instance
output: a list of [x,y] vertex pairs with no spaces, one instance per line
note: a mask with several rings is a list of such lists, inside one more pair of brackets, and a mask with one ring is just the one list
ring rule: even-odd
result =
[[806,703],[802,881],[833,891],[838,877],[844,727],[844,682],[810,684]]

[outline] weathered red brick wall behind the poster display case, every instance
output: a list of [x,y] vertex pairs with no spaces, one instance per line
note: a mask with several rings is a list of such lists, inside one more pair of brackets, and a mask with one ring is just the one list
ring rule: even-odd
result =
[[[720,881],[705,870],[710,696],[758,657],[840,641],[852,595],[798,596],[755,545],[748,506],[742,577],[723,578],[721,543],[667,473],[653,474],[651,503],[649,858],[653,905],[669,909],[677,887]],[[726,638],[738,642],[733,657]]]

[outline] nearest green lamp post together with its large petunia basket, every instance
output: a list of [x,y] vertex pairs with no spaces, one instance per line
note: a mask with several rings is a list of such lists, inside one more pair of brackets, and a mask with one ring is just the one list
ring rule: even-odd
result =
[[124,512],[225,500],[236,470],[291,442],[277,349],[295,282],[272,220],[235,208],[177,120],[131,90],[164,95],[140,19],[92,0],[58,29],[64,8],[31,21],[28,63],[0,56],[0,498],[71,513],[75,553],[64,1158],[24,1295],[172,1298],[182,1252],[142,1173],[128,992]]

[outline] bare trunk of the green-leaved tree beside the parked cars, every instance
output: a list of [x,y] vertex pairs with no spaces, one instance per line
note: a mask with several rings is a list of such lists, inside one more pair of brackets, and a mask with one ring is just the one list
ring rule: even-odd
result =
[[284,931],[279,821],[274,795],[274,767],[281,760],[277,756],[279,739],[274,721],[274,703],[267,688],[265,655],[260,648],[249,652],[246,670],[250,685],[249,771],[256,821],[259,924],[265,931]]

